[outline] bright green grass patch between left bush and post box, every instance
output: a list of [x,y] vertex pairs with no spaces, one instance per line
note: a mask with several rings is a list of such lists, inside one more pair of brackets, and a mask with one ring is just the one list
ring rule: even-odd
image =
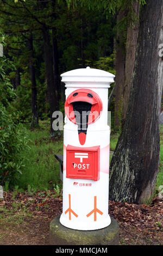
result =
[[49,138],[49,121],[40,121],[39,125],[34,130],[27,126],[30,150],[24,155],[22,175],[17,182],[19,189],[28,189],[28,192],[48,190],[60,183],[59,162],[54,154],[62,154],[62,136]]

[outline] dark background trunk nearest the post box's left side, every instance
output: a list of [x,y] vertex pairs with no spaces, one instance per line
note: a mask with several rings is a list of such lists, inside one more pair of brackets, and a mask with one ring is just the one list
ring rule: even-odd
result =
[[44,27],[42,29],[43,33],[43,45],[44,45],[44,53],[45,53],[45,65],[46,65],[46,81],[47,81],[47,90],[48,90],[48,100],[50,105],[50,115],[51,115],[51,137],[55,136],[55,131],[53,130],[53,118],[52,114],[54,111],[58,110],[57,107],[57,96],[56,91],[57,88],[54,83],[54,75],[53,75],[53,54],[52,54],[52,46],[50,43],[50,36],[48,28]]

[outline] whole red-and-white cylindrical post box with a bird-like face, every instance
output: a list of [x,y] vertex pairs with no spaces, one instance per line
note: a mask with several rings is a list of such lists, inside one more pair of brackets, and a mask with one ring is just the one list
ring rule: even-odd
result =
[[110,224],[108,88],[115,76],[87,67],[61,77],[66,115],[60,223],[78,230],[105,228]]

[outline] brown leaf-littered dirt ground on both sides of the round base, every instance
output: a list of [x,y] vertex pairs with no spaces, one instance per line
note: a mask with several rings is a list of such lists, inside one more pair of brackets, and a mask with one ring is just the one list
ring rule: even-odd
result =
[[[0,245],[48,245],[52,219],[61,214],[54,191],[8,192],[0,199]],[[109,214],[120,225],[120,245],[163,245],[163,199],[151,205],[109,202]]]

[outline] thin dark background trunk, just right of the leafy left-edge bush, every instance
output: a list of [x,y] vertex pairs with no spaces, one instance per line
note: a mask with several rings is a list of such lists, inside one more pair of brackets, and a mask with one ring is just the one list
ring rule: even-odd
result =
[[30,34],[29,38],[29,69],[30,69],[30,81],[32,83],[32,127],[36,127],[39,124],[37,114],[37,88],[36,88],[36,77],[35,77],[35,66],[34,66],[34,51],[33,51],[33,35]]

